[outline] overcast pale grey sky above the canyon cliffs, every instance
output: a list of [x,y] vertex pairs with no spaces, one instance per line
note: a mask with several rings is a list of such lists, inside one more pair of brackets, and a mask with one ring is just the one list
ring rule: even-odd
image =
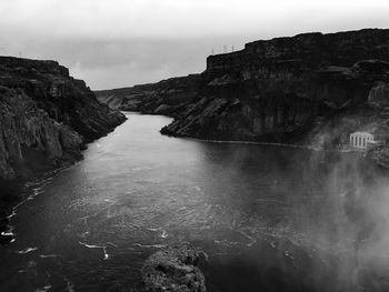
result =
[[223,46],[389,28],[388,13],[388,0],[0,0],[0,54],[111,89],[202,72]]

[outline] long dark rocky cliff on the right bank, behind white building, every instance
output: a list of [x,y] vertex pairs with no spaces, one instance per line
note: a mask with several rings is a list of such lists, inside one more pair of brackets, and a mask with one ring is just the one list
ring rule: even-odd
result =
[[[210,56],[189,90],[182,85],[187,80],[134,87],[126,98],[117,91],[104,94],[120,109],[126,100],[133,110],[144,112],[143,105],[151,104],[146,112],[174,117],[164,134],[336,147],[353,130],[382,132],[376,125],[385,123],[386,113],[369,103],[369,95],[386,92],[373,88],[389,80],[389,30],[256,41],[241,51]],[[161,84],[169,84],[163,94]],[[179,107],[171,108],[164,100],[178,88]]]

